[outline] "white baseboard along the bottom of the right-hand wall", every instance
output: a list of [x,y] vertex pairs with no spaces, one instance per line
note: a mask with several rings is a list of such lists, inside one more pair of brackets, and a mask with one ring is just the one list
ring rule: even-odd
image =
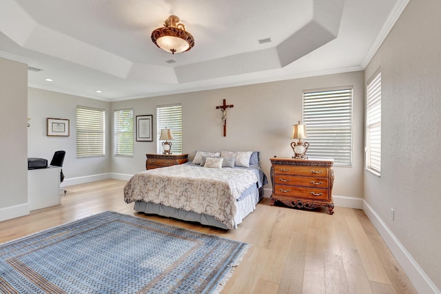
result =
[[402,267],[404,273],[406,273],[409,280],[411,280],[413,286],[418,293],[435,293],[440,294],[441,291],[430,278],[424,273],[422,268],[413,259],[413,257],[407,252],[406,248],[400,243],[398,238],[393,235],[391,230],[382,221],[380,216],[375,210],[363,199],[363,211],[371,220],[373,226],[376,227],[378,233],[384,239],[384,242],[389,247],[391,253],[397,259],[398,263]]

